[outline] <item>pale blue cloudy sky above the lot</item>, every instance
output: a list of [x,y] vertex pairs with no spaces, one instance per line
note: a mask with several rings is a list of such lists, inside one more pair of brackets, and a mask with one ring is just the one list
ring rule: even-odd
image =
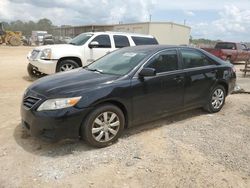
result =
[[0,0],[0,21],[55,25],[175,22],[193,38],[250,42],[250,0]]

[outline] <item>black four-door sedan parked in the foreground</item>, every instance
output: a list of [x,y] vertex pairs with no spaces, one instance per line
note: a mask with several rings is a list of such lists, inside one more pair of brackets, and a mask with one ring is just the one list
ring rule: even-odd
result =
[[23,97],[22,125],[34,136],[105,147],[139,123],[192,108],[220,111],[235,81],[233,65],[200,49],[123,48],[33,83]]

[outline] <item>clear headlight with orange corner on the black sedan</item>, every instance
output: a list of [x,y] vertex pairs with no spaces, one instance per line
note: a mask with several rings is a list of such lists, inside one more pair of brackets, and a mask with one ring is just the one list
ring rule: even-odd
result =
[[61,99],[49,99],[43,102],[37,111],[43,110],[58,110],[62,108],[68,108],[75,106],[82,97],[73,97],[73,98],[61,98]]

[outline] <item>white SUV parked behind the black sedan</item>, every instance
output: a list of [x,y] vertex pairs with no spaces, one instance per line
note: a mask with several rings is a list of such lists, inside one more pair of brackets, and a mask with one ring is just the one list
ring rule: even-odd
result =
[[150,35],[118,32],[82,33],[68,44],[35,48],[28,54],[28,73],[32,77],[86,66],[118,48],[158,44]]

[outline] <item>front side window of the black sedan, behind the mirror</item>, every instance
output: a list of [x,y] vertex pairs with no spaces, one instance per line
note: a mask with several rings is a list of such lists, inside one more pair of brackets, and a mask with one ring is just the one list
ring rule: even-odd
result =
[[156,73],[174,71],[178,69],[178,57],[175,50],[157,54],[149,63],[149,68],[154,68]]

